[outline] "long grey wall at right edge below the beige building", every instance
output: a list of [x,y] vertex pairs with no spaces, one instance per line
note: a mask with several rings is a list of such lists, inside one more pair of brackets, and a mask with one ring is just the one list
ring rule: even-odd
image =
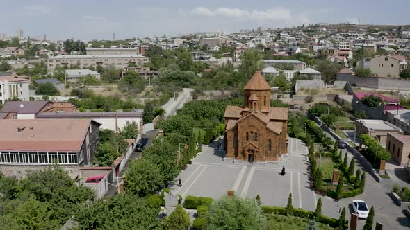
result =
[[338,73],[336,80],[344,80],[358,87],[368,87],[375,89],[397,90],[409,89],[410,80],[404,78],[388,77],[359,77],[347,73]]

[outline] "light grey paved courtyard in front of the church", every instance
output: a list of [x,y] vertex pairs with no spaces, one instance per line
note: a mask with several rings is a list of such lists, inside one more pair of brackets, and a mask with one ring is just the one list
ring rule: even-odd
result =
[[[244,161],[224,159],[223,153],[218,152],[216,143],[202,145],[202,153],[198,154],[186,170],[181,172],[178,179],[182,186],[172,186],[172,194],[206,196],[217,199],[227,194],[228,190],[235,191],[243,197],[261,197],[261,204],[265,206],[286,206],[288,194],[293,195],[293,206],[310,211],[320,195],[315,194],[310,186],[306,167],[308,150],[299,139],[289,139],[288,155],[279,162],[253,164]],[[286,175],[280,175],[282,166],[286,168]],[[332,218],[339,217],[338,203],[329,197],[322,197],[322,212]]]

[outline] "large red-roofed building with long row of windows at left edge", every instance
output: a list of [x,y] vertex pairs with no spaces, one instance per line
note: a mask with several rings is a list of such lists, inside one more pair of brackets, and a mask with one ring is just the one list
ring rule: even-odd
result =
[[58,163],[76,178],[99,144],[99,123],[89,119],[6,119],[0,127],[0,170],[7,177],[25,177]]

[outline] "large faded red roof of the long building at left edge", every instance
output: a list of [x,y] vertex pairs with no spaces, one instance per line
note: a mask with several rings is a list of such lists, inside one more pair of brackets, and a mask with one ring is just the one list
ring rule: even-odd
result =
[[79,152],[89,119],[0,120],[1,151]]

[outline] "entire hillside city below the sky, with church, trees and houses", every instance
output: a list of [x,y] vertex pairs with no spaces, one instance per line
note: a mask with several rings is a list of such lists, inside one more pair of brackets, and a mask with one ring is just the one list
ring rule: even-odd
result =
[[410,24],[197,30],[0,28],[0,229],[410,229]]

